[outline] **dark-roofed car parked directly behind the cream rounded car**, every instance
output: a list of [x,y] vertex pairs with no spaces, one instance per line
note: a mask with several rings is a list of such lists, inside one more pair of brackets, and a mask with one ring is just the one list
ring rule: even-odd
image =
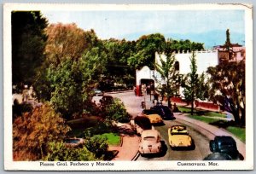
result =
[[151,125],[150,119],[143,115],[138,115],[136,118],[131,119],[130,121],[131,129],[137,133],[137,135],[141,135],[145,130],[154,130],[154,126]]

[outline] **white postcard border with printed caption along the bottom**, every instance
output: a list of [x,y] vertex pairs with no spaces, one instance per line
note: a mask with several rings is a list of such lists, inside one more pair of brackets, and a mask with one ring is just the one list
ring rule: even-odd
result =
[[[72,8],[71,8],[72,6]],[[143,7],[143,8],[142,8]],[[43,161],[17,162],[12,159],[12,81],[11,81],[11,11],[12,10],[191,10],[191,9],[243,9],[246,22],[246,159],[243,161],[81,161],[85,165],[41,165]],[[253,169],[253,14],[250,4],[53,4],[6,3],[3,7],[3,97],[4,97],[4,169],[12,171],[144,171],[144,170],[252,170]],[[216,161],[213,161],[216,162]],[[65,162],[63,162],[64,164]],[[105,164],[105,165],[97,165]],[[109,164],[113,165],[109,165]],[[65,163],[66,164],[66,163]],[[190,165],[189,165],[190,164]],[[204,164],[204,165],[202,165]]]

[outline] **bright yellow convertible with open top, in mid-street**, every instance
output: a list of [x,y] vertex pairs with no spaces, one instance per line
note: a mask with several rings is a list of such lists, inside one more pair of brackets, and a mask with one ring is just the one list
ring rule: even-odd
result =
[[192,137],[184,125],[173,125],[168,129],[168,136],[171,148],[195,148]]

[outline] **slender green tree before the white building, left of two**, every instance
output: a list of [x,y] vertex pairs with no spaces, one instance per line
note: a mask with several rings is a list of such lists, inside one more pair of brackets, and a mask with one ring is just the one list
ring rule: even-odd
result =
[[[160,86],[160,90],[166,93],[168,99],[168,107],[172,107],[171,98],[177,94],[180,82],[179,73],[174,65],[174,54],[167,54],[166,60],[160,57],[160,64],[155,64],[155,70],[160,73],[161,81],[164,81],[164,85]],[[155,80],[159,82],[156,77]]]

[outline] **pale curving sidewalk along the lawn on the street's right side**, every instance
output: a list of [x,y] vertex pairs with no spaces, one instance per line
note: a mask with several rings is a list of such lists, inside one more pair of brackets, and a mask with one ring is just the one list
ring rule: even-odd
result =
[[228,131],[225,131],[224,129],[219,129],[218,127],[215,127],[213,125],[208,125],[207,123],[204,123],[202,121],[196,120],[196,119],[190,119],[183,113],[174,113],[175,118],[182,119],[183,121],[189,122],[192,125],[195,125],[195,129],[203,128],[204,130],[209,131],[212,135],[209,134],[207,131],[201,131],[201,134],[207,136],[209,139],[213,139],[214,136],[232,136],[236,141],[236,146],[238,151],[242,154],[244,159],[246,159],[246,145],[245,143],[241,142],[236,136],[231,134]]

